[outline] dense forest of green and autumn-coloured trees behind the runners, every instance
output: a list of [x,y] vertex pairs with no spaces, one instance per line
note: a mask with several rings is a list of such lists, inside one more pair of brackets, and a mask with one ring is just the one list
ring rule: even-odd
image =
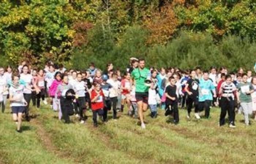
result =
[[256,0],[0,0],[2,66],[252,69],[255,39]]

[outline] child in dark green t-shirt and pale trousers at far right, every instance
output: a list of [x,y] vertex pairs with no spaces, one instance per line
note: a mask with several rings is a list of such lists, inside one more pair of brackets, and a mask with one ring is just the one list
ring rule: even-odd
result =
[[240,102],[242,111],[244,113],[245,124],[249,125],[249,114],[252,114],[252,93],[254,92],[253,86],[247,82],[248,76],[242,75],[242,82],[237,85],[237,102]]

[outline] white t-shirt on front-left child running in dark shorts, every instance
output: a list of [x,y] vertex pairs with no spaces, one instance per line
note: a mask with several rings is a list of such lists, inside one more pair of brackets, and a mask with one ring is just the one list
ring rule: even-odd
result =
[[16,99],[16,101],[11,102],[10,106],[25,106],[23,96],[24,89],[25,87],[23,85],[19,85],[17,88],[13,86],[10,87],[9,94]]

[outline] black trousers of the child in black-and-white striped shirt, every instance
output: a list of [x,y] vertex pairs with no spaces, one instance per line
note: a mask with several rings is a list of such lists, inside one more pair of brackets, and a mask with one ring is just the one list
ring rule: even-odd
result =
[[221,97],[221,115],[219,118],[219,125],[225,124],[226,114],[229,114],[229,123],[235,120],[235,102],[232,97]]

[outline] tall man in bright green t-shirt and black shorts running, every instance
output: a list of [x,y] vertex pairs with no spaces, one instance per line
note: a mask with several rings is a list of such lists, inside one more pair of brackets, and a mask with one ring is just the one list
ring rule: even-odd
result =
[[[145,68],[145,60],[139,59],[139,67],[134,69],[131,74],[131,84],[135,83],[135,97],[138,104],[139,118],[141,127],[146,128],[143,121],[143,112],[148,108],[148,86],[145,85],[145,80],[150,77],[150,70]],[[134,80],[134,81],[133,81]]]

